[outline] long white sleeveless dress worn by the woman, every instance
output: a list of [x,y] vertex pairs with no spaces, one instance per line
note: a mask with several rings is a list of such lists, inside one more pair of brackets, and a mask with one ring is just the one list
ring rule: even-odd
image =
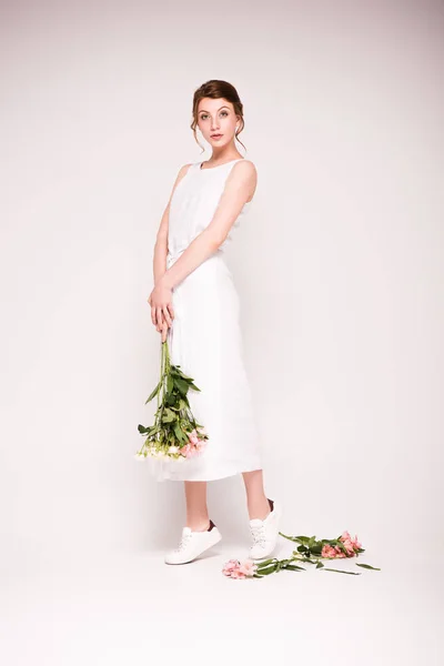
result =
[[[167,268],[211,222],[225,181],[236,162],[201,169],[195,162],[176,185],[170,203]],[[233,229],[222,245],[172,292],[173,324],[168,332],[171,362],[193,377],[190,408],[209,440],[191,458],[147,458],[158,481],[212,481],[262,468],[262,443],[243,361],[240,299],[224,259]]]

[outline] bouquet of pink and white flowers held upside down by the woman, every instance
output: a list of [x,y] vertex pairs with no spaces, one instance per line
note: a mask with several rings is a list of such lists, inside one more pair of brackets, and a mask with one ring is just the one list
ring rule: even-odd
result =
[[145,404],[158,396],[158,408],[153,425],[145,427],[139,424],[138,430],[145,436],[138,460],[148,456],[158,460],[184,461],[203,451],[209,438],[203,425],[198,423],[191,413],[186,397],[188,391],[200,391],[192,377],[186,376],[180,365],[170,360],[168,339],[161,343],[161,370],[158,385],[145,401]]

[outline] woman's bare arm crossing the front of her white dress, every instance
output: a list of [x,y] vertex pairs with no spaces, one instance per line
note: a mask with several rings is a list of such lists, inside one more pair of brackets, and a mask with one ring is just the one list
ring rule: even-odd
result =
[[[212,221],[163,273],[158,283],[160,290],[172,290],[218,250],[225,241],[243,205],[254,194],[256,181],[253,162],[242,160],[234,164]],[[160,306],[163,307],[164,303]]]

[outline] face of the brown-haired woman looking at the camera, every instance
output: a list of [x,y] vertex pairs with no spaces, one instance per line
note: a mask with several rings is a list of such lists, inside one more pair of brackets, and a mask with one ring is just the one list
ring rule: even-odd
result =
[[224,98],[203,98],[199,102],[198,127],[212,147],[230,143],[235,134],[236,122],[233,104]]

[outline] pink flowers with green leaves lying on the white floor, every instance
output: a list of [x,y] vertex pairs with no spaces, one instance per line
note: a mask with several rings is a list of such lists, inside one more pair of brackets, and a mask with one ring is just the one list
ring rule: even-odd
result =
[[[239,559],[229,559],[222,568],[222,573],[231,578],[263,578],[269,574],[274,574],[281,571],[304,572],[303,566],[299,566],[295,562],[306,562],[315,564],[319,569],[325,572],[336,572],[339,574],[349,574],[360,576],[357,572],[346,572],[342,569],[327,568],[321,562],[322,558],[334,559],[343,557],[357,557],[360,553],[364,553],[362,544],[357,541],[357,535],[351,537],[349,532],[343,532],[337,538],[317,539],[315,536],[289,536],[280,532],[280,535],[292,542],[299,543],[296,551],[293,551],[292,557],[287,559],[271,559],[256,561],[245,559],[243,563]],[[370,564],[360,564],[356,566],[380,572],[381,569]]]

